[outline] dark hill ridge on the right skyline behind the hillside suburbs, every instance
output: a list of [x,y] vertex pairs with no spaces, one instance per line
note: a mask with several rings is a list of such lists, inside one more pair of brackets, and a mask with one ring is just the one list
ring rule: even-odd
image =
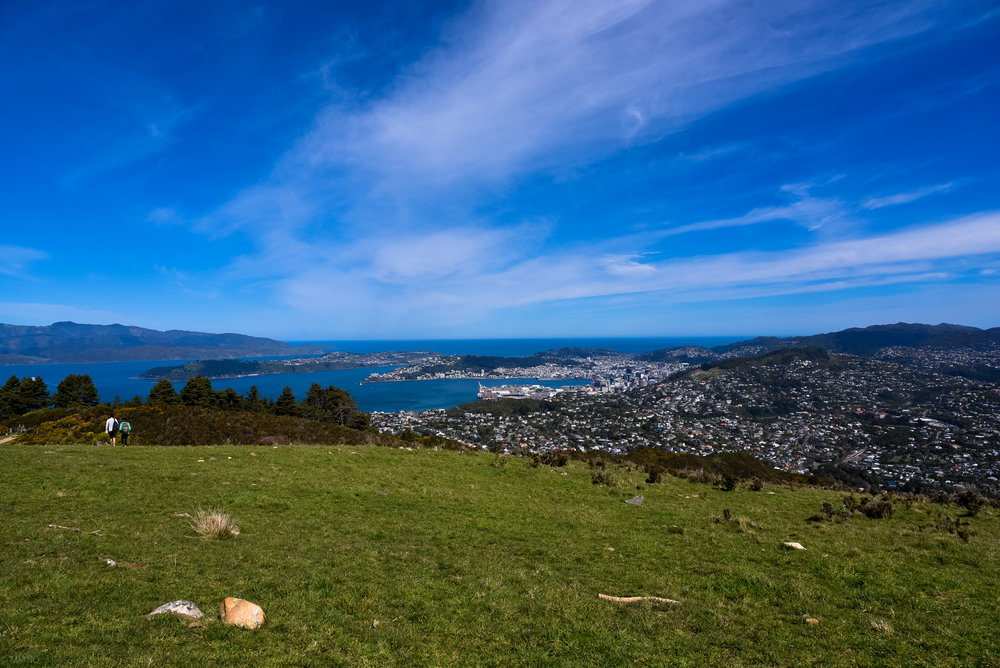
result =
[[985,351],[1000,346],[1000,327],[979,329],[964,325],[921,325],[899,322],[894,325],[852,327],[839,332],[811,336],[759,336],[715,348],[684,346],[644,353],[647,361],[688,363],[713,362],[729,357],[761,355],[782,348],[822,348],[832,353],[873,356],[887,348],[938,349],[968,348]]

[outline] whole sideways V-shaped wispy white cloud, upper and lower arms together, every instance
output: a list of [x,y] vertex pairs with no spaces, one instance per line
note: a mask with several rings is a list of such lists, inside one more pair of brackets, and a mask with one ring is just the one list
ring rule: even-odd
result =
[[[839,229],[833,223],[849,221],[859,205],[789,184],[784,203],[674,226],[631,250],[614,233],[561,246],[545,228],[519,245],[529,224],[481,220],[477,207],[531,175],[658,141],[927,30],[937,9],[730,0],[474,5],[395,85],[347,101],[341,91],[268,179],[201,218],[198,229],[248,233],[257,251],[232,262],[230,276],[268,277],[293,308],[336,313],[355,331],[611,295],[686,299],[751,286],[782,293],[925,280],[962,254],[1000,252],[981,220],[832,243],[827,235],[828,243],[770,254],[657,260],[651,246],[664,236],[777,220]],[[954,225],[980,243],[955,247]]]

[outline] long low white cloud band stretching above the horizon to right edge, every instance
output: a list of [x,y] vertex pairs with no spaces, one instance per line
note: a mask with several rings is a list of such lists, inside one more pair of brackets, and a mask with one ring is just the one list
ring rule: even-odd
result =
[[[398,243],[405,247],[421,239],[401,238]],[[357,317],[359,324],[371,326],[394,317],[447,326],[504,309],[616,295],[650,295],[653,307],[692,299],[940,281],[968,271],[970,258],[998,254],[1000,213],[989,213],[784,251],[663,260],[645,253],[609,256],[599,246],[525,253],[499,268],[468,266],[460,274],[447,275],[421,272],[420,281],[407,282],[402,289],[383,280],[380,260],[372,253],[350,270],[314,263],[280,281],[280,289],[291,303],[317,316],[339,309],[338,319]]]

